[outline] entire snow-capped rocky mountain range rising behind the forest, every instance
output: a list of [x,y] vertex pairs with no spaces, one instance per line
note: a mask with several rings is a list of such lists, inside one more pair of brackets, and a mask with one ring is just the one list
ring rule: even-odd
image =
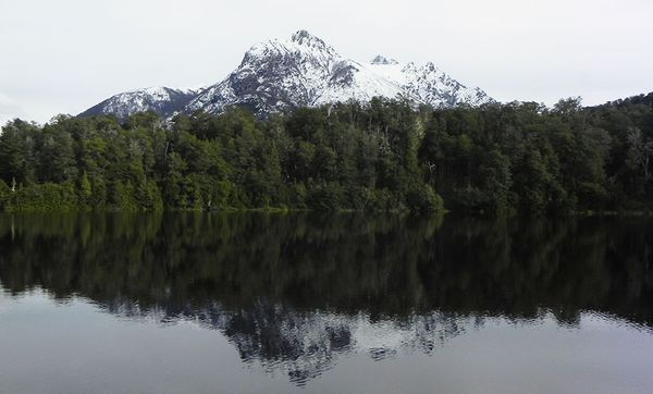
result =
[[373,97],[436,108],[493,102],[483,90],[466,87],[433,63],[399,63],[383,56],[360,63],[299,30],[289,39],[251,47],[235,71],[195,95],[170,88],[135,90],[113,96],[82,115],[113,113],[124,118],[143,110],[165,116],[197,110],[220,113],[230,106],[266,114],[349,100],[368,102]]

